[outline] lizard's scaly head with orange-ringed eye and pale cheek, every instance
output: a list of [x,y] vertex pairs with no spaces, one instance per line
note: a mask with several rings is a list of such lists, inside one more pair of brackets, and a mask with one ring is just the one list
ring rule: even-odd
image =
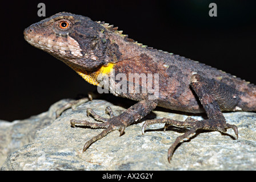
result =
[[24,37],[71,67],[90,71],[110,61],[110,41],[104,31],[105,27],[85,16],[58,13],[26,28]]

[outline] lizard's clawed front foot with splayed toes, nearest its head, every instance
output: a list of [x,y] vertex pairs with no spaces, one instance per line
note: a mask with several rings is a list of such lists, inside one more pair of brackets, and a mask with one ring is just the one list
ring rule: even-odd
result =
[[95,120],[100,121],[101,123],[92,123],[88,121],[80,121],[80,120],[75,120],[71,119],[70,124],[71,126],[75,127],[75,125],[82,125],[82,126],[89,126],[91,128],[103,128],[103,130],[100,134],[96,135],[95,137],[91,138],[85,143],[85,146],[83,147],[83,152],[86,151],[86,149],[94,142],[97,140],[105,137],[107,134],[109,134],[111,131],[119,130],[120,136],[123,134],[125,131],[126,125],[123,124],[122,122],[122,114],[115,116],[113,114],[113,111],[110,106],[106,107],[106,114],[110,116],[109,119],[103,118],[100,115],[94,113],[94,111],[91,108],[88,108],[87,111],[87,117],[91,116]]

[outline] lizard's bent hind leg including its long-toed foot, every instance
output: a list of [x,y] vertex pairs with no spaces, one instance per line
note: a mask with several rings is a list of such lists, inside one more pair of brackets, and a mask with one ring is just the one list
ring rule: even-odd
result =
[[187,118],[184,122],[175,121],[168,118],[153,119],[146,121],[142,127],[142,134],[144,134],[147,126],[154,123],[165,123],[165,129],[168,125],[174,125],[178,127],[191,127],[191,129],[185,134],[177,137],[175,142],[169,148],[169,163],[177,145],[184,139],[193,135],[198,129],[220,131],[225,133],[227,129],[231,128],[234,130],[235,135],[237,135],[238,138],[237,126],[226,123],[226,119],[221,112],[221,107],[222,109],[232,109],[237,105],[238,97],[235,90],[227,85],[222,84],[221,82],[204,78],[197,73],[194,73],[194,75],[191,76],[190,85],[199,97],[199,100],[201,101],[201,104],[205,109],[209,119],[197,121],[193,118]]

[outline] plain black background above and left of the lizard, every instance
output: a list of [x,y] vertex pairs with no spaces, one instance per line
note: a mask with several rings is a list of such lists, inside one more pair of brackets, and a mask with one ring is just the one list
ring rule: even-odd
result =
[[[89,16],[139,43],[189,57],[256,83],[253,1],[20,1],[1,5],[0,119],[25,119],[62,98],[97,89],[23,39],[23,30],[60,11]],[[217,3],[218,16],[209,16]]]

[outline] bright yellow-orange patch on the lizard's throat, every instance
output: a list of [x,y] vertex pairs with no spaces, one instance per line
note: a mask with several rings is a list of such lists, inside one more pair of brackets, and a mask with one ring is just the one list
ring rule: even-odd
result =
[[102,76],[108,75],[113,70],[114,63],[102,65],[102,67],[99,68],[98,71],[93,72],[93,73],[88,73],[80,68],[73,67],[71,65],[69,65],[69,66],[72,69],[74,69],[74,71],[77,72],[78,75],[80,75],[83,79],[85,79],[87,82],[89,82],[89,84],[98,86],[99,82],[97,81],[97,77],[99,76],[99,74],[102,74]]

